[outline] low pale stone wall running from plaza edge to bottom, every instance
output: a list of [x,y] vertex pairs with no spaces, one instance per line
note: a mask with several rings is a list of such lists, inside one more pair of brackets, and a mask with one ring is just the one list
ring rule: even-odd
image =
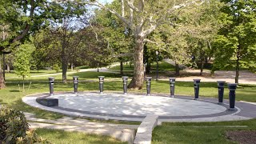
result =
[[152,131],[158,125],[158,115],[148,114],[138,126],[138,130],[134,139],[134,144],[150,144]]

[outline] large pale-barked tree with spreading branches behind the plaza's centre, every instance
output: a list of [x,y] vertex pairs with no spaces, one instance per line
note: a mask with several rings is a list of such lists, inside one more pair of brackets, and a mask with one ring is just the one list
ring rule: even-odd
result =
[[[145,38],[162,24],[174,23],[173,14],[186,6],[201,5],[206,0],[124,0],[121,14],[98,0],[90,3],[115,14],[134,34],[134,77],[129,87],[142,89],[144,80],[143,47]],[[124,7],[124,8],[123,8]],[[124,10],[124,11],[123,11]],[[124,14],[124,16],[122,15]]]

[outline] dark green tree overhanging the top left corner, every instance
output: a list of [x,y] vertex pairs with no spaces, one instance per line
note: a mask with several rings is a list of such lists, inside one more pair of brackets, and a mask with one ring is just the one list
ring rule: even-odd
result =
[[[73,2],[58,4],[48,0],[1,0],[0,24],[10,26],[12,34],[4,41],[0,41],[0,51],[10,47],[15,42],[24,42],[29,34],[34,34],[50,22],[61,19],[66,15],[78,15],[85,10],[83,4],[74,5]],[[16,46],[17,47],[17,46]],[[4,87],[2,71],[0,72],[0,88]]]

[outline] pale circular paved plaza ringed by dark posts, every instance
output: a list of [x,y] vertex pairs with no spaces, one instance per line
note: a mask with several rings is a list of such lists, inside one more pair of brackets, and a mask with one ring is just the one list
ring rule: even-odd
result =
[[[58,98],[58,106],[42,106],[37,98]],[[22,98],[30,106],[74,117],[142,121],[147,114],[156,114],[162,122],[215,122],[255,118],[256,105],[236,102],[236,109],[229,110],[228,101],[218,105],[215,98],[200,98],[167,95],[138,95],[84,92],[33,94]],[[252,113],[252,114],[250,114]]]

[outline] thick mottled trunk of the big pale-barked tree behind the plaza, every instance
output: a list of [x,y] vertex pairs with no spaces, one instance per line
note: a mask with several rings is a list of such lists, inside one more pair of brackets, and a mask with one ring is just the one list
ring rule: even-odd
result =
[[142,89],[144,81],[144,65],[143,65],[143,41],[142,36],[136,36],[134,51],[134,77],[130,81],[129,88]]

